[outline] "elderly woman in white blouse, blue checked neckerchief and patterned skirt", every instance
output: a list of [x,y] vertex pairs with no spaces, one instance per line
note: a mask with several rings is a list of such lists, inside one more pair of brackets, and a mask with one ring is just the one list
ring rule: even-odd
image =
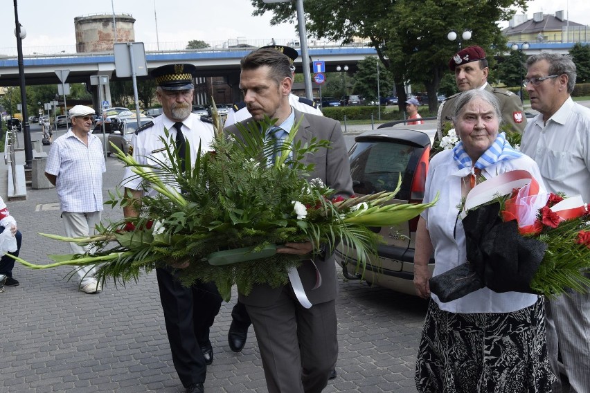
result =
[[[453,120],[461,141],[431,160],[424,203],[437,192],[440,199],[422,213],[416,235],[414,284],[422,298],[430,298],[416,362],[418,392],[550,392],[554,376],[548,367],[542,297],[483,287],[442,302],[430,291],[431,276],[466,261],[458,213],[476,183],[526,170],[544,188],[535,161],[499,134],[501,110],[492,93],[461,93]],[[436,265],[431,274],[432,253]]]

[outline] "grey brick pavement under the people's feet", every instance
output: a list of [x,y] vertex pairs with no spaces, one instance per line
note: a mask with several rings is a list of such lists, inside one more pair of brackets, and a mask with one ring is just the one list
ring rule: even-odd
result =
[[[122,171],[115,158],[107,159],[105,198]],[[63,234],[59,210],[50,210],[57,201],[55,189],[28,188],[26,201],[8,204],[23,232],[24,259],[46,263],[48,254],[69,253],[66,244],[37,235]],[[103,217],[121,214],[107,206]],[[0,293],[0,393],[184,392],[153,273],[125,286],[107,283],[98,295],[78,291],[66,280],[68,268],[35,271],[17,264],[13,273],[21,285]],[[324,392],[415,392],[426,303],[342,277],[339,287],[338,376]],[[211,329],[215,360],[206,392],[266,392],[253,329],[242,353],[227,345],[232,306],[222,305]]]

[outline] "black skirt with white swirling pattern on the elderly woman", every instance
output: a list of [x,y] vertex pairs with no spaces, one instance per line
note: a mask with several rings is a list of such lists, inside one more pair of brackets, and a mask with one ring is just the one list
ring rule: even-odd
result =
[[545,304],[512,313],[449,313],[430,300],[416,360],[420,393],[551,392]]

